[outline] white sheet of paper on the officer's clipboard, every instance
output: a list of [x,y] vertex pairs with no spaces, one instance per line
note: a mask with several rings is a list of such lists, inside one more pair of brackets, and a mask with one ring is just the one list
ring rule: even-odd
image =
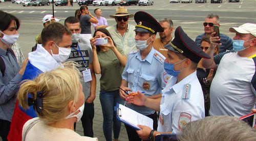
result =
[[130,123],[131,125],[136,126],[137,128],[139,128],[137,125],[140,124],[140,125],[148,126],[151,129],[153,129],[153,120],[150,117],[147,117],[141,113],[138,113],[133,109],[125,107],[122,104],[119,104],[119,108],[121,111],[120,113],[121,116],[119,116],[120,120]]

